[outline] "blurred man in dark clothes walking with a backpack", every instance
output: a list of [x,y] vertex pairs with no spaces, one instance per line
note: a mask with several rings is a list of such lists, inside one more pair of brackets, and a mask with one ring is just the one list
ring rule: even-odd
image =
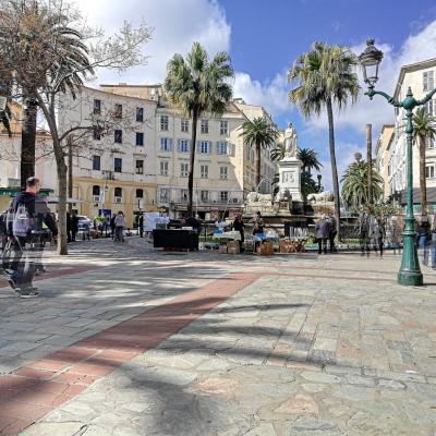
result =
[[[12,272],[9,283],[23,299],[39,295],[32,284],[36,257],[32,257],[31,252],[35,246],[40,250],[43,223],[51,231],[53,239],[58,235],[58,228],[47,202],[38,193],[39,180],[35,177],[28,178],[26,190],[12,201],[8,211],[9,242],[17,253],[16,269]],[[29,245],[28,250],[26,250],[26,244]]]

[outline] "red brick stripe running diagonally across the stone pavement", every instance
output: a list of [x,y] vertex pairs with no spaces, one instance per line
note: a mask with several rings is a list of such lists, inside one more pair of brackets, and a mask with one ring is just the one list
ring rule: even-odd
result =
[[229,274],[0,376],[0,435],[19,434],[123,362],[156,347],[262,276]]

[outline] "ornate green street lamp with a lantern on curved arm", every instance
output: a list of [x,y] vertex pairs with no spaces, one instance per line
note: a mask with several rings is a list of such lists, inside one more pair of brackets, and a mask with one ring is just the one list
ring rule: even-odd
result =
[[359,61],[363,69],[365,83],[368,85],[368,90],[365,93],[373,99],[375,95],[385,97],[390,105],[396,108],[405,110],[407,124],[407,208],[405,208],[405,226],[403,232],[403,251],[401,267],[398,272],[398,282],[403,286],[422,286],[423,275],[417,259],[417,251],[415,245],[416,233],[414,229],[415,219],[413,216],[413,166],[412,166],[412,143],[413,143],[413,109],[417,106],[425,105],[436,93],[436,88],[428,93],[423,99],[416,100],[413,97],[412,89],[409,86],[408,94],[402,101],[396,100],[388,94],[380,90],[374,90],[374,86],[378,80],[378,65],[383,59],[383,52],[374,46],[374,39],[366,41],[365,51],[359,57]]

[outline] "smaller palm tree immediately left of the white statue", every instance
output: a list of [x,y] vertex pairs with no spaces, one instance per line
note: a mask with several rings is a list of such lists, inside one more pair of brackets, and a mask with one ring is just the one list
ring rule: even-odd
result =
[[242,124],[240,136],[244,143],[251,147],[256,147],[256,184],[261,184],[261,152],[262,148],[269,148],[276,142],[279,135],[277,125],[265,117],[254,118],[253,121],[247,120]]

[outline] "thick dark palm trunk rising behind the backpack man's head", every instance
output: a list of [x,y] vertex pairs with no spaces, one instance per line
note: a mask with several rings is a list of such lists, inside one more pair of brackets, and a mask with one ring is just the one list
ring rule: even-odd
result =
[[23,130],[21,133],[21,187],[25,189],[26,180],[35,175],[36,113],[38,105],[35,99],[25,98]]

